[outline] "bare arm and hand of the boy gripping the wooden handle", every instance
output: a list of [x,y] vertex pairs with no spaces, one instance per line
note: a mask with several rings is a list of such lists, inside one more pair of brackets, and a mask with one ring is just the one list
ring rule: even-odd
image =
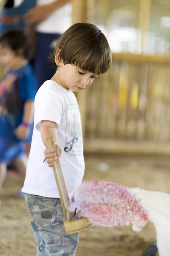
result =
[[[61,156],[61,149],[58,146],[57,124],[52,121],[43,120],[41,121],[40,132],[41,132],[42,141],[46,147],[45,158],[48,163],[48,166],[51,167],[54,165],[54,161],[56,160],[56,157]],[[52,149],[47,148],[48,145],[47,145],[46,139],[50,137],[53,137],[54,142],[56,143],[57,154],[55,154]]]

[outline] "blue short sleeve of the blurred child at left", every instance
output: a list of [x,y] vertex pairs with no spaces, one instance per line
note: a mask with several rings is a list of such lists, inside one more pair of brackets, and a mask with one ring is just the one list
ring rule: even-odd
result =
[[34,73],[31,69],[27,69],[23,72],[22,76],[19,77],[19,84],[21,101],[34,101],[37,85]]

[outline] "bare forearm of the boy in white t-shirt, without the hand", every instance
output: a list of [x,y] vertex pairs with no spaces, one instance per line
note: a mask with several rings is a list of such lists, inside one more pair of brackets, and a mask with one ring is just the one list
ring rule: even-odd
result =
[[57,143],[58,145],[57,127],[54,128],[49,125],[41,125],[40,132],[41,132],[42,141],[46,148],[48,147],[46,139],[50,137],[53,137],[54,142]]

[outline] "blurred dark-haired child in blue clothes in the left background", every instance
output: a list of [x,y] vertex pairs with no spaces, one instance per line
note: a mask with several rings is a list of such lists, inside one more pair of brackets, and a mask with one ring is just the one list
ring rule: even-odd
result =
[[[25,142],[31,140],[36,93],[29,53],[22,31],[12,30],[0,36],[0,61],[8,70],[0,84],[0,189],[10,161],[14,160],[22,182],[26,175]],[[21,189],[18,196],[24,196]]]

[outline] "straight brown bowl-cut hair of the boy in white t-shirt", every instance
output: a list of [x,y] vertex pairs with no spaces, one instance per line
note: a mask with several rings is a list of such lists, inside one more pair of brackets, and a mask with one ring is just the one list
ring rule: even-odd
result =
[[57,49],[64,64],[74,64],[82,70],[103,74],[112,60],[111,49],[101,30],[90,23],[76,23],[59,38],[54,53],[49,57],[55,63]]

